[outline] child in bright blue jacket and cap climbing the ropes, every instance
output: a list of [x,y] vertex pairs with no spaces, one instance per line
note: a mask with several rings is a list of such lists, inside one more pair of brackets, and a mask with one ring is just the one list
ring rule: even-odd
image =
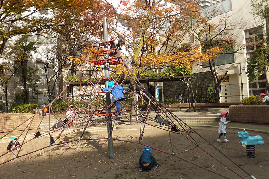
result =
[[118,85],[114,85],[114,81],[108,82],[108,88],[103,88],[101,91],[110,91],[112,94],[112,100],[113,103],[115,104],[117,111],[115,113],[115,116],[122,115],[120,112],[120,103],[126,99],[126,97],[123,94],[123,88]]

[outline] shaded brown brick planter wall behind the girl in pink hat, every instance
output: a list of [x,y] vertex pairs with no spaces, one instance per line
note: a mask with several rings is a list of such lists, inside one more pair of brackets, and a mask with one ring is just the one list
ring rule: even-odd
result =
[[269,124],[269,105],[229,106],[231,121]]

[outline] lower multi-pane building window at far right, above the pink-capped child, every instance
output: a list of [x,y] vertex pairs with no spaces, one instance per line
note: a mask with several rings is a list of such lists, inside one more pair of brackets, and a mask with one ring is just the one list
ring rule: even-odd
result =
[[266,78],[262,74],[260,77],[256,77],[256,80],[249,82],[249,95],[260,95],[266,91]]

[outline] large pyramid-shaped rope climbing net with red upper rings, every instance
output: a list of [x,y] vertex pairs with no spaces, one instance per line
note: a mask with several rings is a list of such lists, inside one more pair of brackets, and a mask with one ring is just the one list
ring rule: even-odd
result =
[[[104,18],[105,19],[105,18]],[[114,44],[114,40],[108,40],[107,34],[105,32],[106,19],[104,20],[103,26],[100,25],[99,32],[104,32],[104,41],[97,41],[93,43],[91,47],[91,52],[88,54],[85,62],[82,64],[79,73],[77,73],[73,79],[67,84],[63,92],[60,93],[50,104],[46,107],[48,108],[48,118],[49,126],[47,129],[42,129],[43,118],[40,120],[38,127],[35,129],[34,135],[30,136],[29,139],[29,129],[32,125],[32,121],[36,115],[39,115],[40,111],[34,114],[32,117],[24,121],[22,124],[27,124],[25,129],[21,132],[17,139],[22,141],[20,143],[20,150],[7,151],[0,155],[0,158],[7,155],[9,152],[13,154],[12,157],[9,155],[9,159],[2,162],[0,165],[5,164],[11,160],[15,160],[21,156],[26,156],[33,154],[34,152],[44,150],[45,148],[57,145],[65,145],[70,142],[78,142],[82,140],[108,140],[108,147],[111,147],[110,141],[123,141],[117,137],[113,137],[112,132],[115,124],[128,123],[130,126],[139,125],[140,130],[137,135],[139,139],[137,141],[126,140],[124,142],[137,143],[137,145],[143,145],[151,147],[154,150],[163,152],[167,155],[174,156],[179,160],[198,166],[199,170],[207,170],[216,174],[216,177],[221,178],[246,178],[250,176],[255,178],[253,175],[245,171],[241,166],[233,162],[233,160],[227,157],[223,152],[221,152],[215,145],[212,145],[203,136],[197,133],[194,129],[188,126],[184,121],[182,121],[178,116],[169,111],[164,107],[159,101],[157,101],[145,88],[143,84],[139,82],[135,74],[130,68],[130,64],[127,64],[124,59],[120,56],[120,52],[117,48],[108,49],[109,46]],[[108,23],[109,24],[109,23]],[[101,28],[102,27],[102,28]],[[111,28],[108,28],[111,29]],[[112,34],[112,32],[110,32]],[[97,34],[96,39],[102,37],[102,35]],[[115,44],[116,45],[116,44]],[[87,75],[85,70],[92,70],[91,75]],[[74,82],[75,78],[79,77],[80,80]],[[112,85],[109,83],[112,83]],[[65,97],[64,91],[67,87],[73,88],[73,94],[71,97]],[[121,89],[124,86],[125,90],[122,90],[123,96],[118,97],[117,93],[113,90]],[[105,88],[104,88],[105,87]],[[116,94],[116,95],[115,95]],[[112,97],[112,100],[111,98]],[[65,113],[59,117],[55,115],[53,111],[53,106],[56,101],[63,101],[66,105]],[[145,109],[140,109],[139,104],[144,104]],[[120,111],[117,107],[120,105]],[[56,119],[56,120],[55,120]],[[55,120],[54,125],[50,125],[51,120]],[[91,130],[91,127],[106,123],[108,126],[108,137],[107,138],[85,138],[83,135],[86,130]],[[16,131],[18,125],[12,131]],[[169,135],[169,141],[167,141],[167,146],[149,146],[147,141],[144,140],[143,134],[147,130],[146,126],[155,127],[157,130],[165,131]],[[75,129],[73,131],[70,128]],[[60,138],[64,135],[63,131],[68,130],[68,134],[80,132],[80,137],[77,140],[70,140],[61,142]],[[11,133],[10,131],[9,133]],[[9,133],[2,136],[3,139]],[[47,145],[33,148],[32,152],[24,153],[24,147],[31,142],[34,142],[37,138],[45,137],[47,140]],[[175,137],[177,136],[177,137]],[[197,140],[197,137],[199,140]],[[158,141],[158,137],[152,140]],[[190,143],[187,146],[181,146],[180,141],[186,140]],[[206,143],[206,145],[200,145],[201,143]],[[113,145],[113,144],[111,144]],[[206,147],[205,146],[209,146]],[[16,149],[15,148],[15,149]],[[110,150],[110,149],[109,149]],[[195,163],[192,160],[187,159],[190,152],[199,151],[204,155],[207,155],[210,159],[213,159],[219,166],[227,168],[229,170],[229,175],[219,173],[218,171],[212,170],[207,166],[203,166],[202,163]],[[219,156],[216,158],[214,154],[217,153]],[[220,159],[225,158],[225,162]],[[112,154],[113,157],[113,148]],[[236,170],[234,168],[237,168]]]

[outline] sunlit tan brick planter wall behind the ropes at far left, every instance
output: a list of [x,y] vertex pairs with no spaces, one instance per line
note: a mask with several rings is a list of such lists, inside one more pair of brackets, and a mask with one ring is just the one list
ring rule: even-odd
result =
[[[0,114],[0,132],[9,132],[34,114],[29,113],[10,113],[10,114]],[[29,119],[26,123],[20,125],[14,131],[24,130],[26,126],[31,122]],[[30,129],[36,129],[40,123],[39,115],[34,116]],[[29,127],[29,126],[28,126]],[[28,129],[27,127],[27,129]]]

